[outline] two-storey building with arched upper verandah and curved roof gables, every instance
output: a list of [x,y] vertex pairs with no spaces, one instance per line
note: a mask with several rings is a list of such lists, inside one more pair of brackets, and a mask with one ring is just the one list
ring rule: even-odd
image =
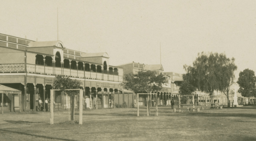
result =
[[[106,52],[85,53],[66,48],[62,41],[33,41],[0,34],[0,84],[22,91],[22,96],[15,99],[21,105],[14,110],[36,110],[39,98],[50,98],[56,75],[81,81],[84,103],[90,108],[96,102],[109,107],[109,101],[114,103],[117,97],[114,92],[123,90],[123,68],[109,65]],[[98,92],[101,94],[96,100]],[[9,110],[12,100],[12,96],[5,95],[1,105]]]

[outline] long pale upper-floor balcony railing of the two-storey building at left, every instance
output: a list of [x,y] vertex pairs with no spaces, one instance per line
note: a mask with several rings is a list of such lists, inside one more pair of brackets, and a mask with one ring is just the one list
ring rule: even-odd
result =
[[[34,65],[34,64],[26,64],[27,72],[29,73],[39,73],[39,74],[48,74],[48,75],[66,75],[72,77],[80,77],[80,78],[92,78],[92,79],[100,79],[106,81],[117,81],[123,82],[123,76],[116,75],[117,73],[112,72],[112,74],[105,73],[96,73],[90,71],[69,69],[69,68],[60,68],[60,67],[52,67],[52,66],[44,66],[44,65]],[[24,64],[0,64],[0,72],[24,72],[25,65]]]

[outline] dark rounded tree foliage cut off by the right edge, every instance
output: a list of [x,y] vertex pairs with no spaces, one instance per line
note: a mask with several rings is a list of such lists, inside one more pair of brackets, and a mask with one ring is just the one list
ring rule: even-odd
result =
[[237,83],[240,87],[238,92],[243,97],[256,97],[256,77],[253,70],[245,69],[240,72]]

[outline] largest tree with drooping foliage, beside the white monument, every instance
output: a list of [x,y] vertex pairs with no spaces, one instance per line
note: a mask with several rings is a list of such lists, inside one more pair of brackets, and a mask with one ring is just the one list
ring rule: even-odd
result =
[[198,53],[193,66],[184,65],[186,74],[183,79],[196,89],[210,93],[210,96],[214,91],[223,91],[228,97],[237,69],[234,61],[234,58],[227,58],[224,53]]

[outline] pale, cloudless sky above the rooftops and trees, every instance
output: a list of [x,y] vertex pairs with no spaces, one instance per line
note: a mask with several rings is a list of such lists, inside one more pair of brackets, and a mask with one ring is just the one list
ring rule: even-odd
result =
[[110,65],[160,64],[184,73],[198,52],[225,52],[256,71],[255,0],[0,0],[0,33],[107,52]]

